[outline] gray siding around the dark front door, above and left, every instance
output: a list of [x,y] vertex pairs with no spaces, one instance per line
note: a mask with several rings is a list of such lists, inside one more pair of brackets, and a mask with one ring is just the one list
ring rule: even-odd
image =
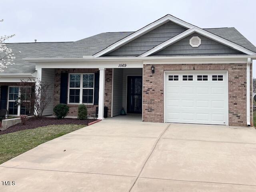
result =
[[127,68],[123,69],[123,104],[124,110],[126,111],[127,104],[127,76],[142,76],[142,68]]

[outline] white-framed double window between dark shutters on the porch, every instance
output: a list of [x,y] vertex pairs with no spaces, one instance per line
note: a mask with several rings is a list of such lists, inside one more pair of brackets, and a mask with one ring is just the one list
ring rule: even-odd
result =
[[94,73],[70,73],[68,85],[69,104],[93,104]]

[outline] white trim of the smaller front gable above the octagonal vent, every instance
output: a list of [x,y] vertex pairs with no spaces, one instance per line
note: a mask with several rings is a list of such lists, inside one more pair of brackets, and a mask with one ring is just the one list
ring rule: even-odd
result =
[[190,29],[188,29],[188,30],[186,30],[186,31],[184,31],[184,32],[174,36],[173,38],[171,38],[171,39],[169,39],[169,40],[159,44],[158,46],[155,46],[154,48],[148,50],[147,52],[141,54],[138,57],[146,57],[146,56],[149,56],[149,55],[151,55],[151,54],[153,54],[155,52],[158,52],[158,51],[166,48],[167,46],[170,46],[171,44],[174,44],[175,42],[181,40],[182,38],[185,38],[186,36],[189,36],[190,34],[192,34],[194,32],[197,32],[197,33],[199,33],[199,34],[201,34],[203,36],[206,36],[206,37],[208,37],[208,38],[210,38],[212,40],[215,40],[215,41],[217,41],[217,42],[219,42],[221,44],[229,46],[230,48],[233,48],[233,49],[238,50],[240,52],[243,52],[245,54],[248,54],[248,55],[255,55],[256,54],[255,52],[253,52],[251,50],[248,50],[248,49],[244,48],[243,46],[240,46],[240,45],[238,45],[236,43],[233,43],[233,42],[231,42],[229,40],[226,40],[226,39],[224,39],[224,38],[222,38],[220,36],[212,34],[212,33],[208,32],[206,30],[203,30],[203,29],[198,28],[198,27],[193,27],[193,28],[190,28]]

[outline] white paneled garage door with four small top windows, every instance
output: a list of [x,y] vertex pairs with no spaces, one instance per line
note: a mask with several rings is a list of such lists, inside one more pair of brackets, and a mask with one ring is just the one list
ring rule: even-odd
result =
[[166,71],[165,122],[228,125],[226,71]]

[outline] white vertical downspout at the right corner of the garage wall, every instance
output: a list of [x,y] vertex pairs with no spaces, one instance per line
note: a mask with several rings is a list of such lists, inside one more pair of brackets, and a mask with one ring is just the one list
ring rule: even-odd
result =
[[246,65],[246,119],[247,126],[251,126],[250,123],[250,65],[252,63],[251,58],[247,59]]

